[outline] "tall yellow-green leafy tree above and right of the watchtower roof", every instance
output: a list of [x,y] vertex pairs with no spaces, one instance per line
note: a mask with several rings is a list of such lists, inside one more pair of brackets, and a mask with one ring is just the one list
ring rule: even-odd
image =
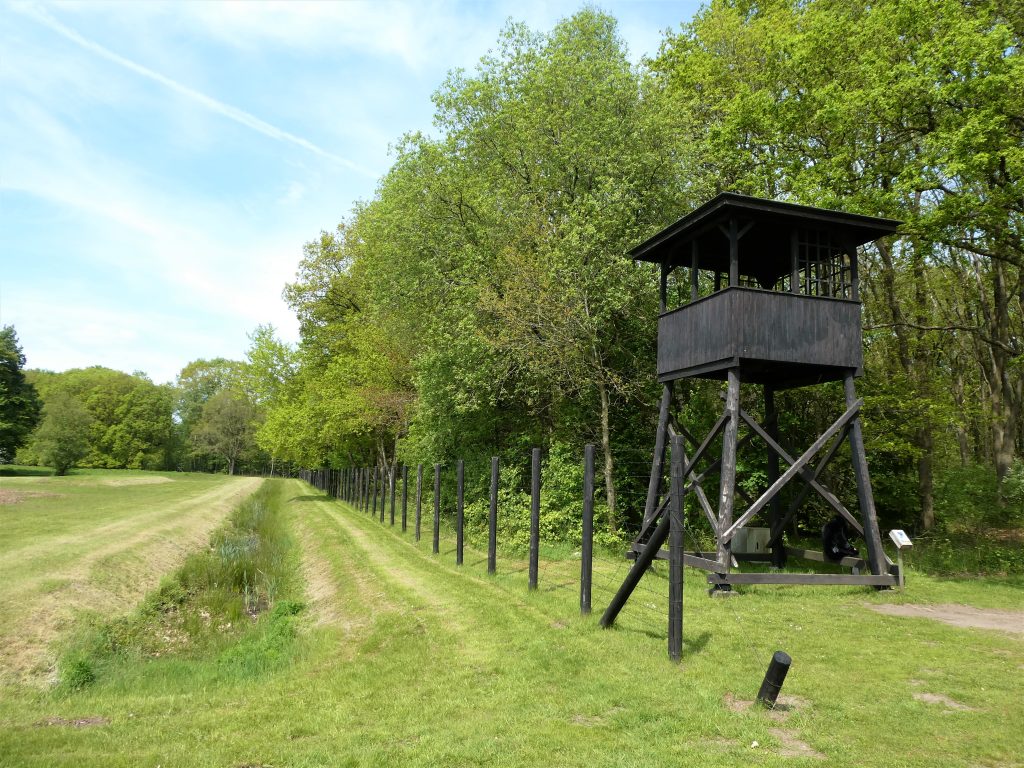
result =
[[1020,32],[998,2],[718,0],[652,63],[700,187],[906,221],[865,251],[862,298],[868,396],[888,412],[871,431],[902,440],[925,528],[972,371],[996,477],[1021,421]]

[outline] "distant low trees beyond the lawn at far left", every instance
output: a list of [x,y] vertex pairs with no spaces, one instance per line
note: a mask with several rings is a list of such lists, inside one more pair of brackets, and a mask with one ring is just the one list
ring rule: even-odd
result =
[[[257,329],[253,339],[269,328]],[[254,341],[255,343],[255,341]],[[264,472],[249,360],[199,359],[174,384],[101,366],[25,370],[16,332],[0,333],[0,464]]]

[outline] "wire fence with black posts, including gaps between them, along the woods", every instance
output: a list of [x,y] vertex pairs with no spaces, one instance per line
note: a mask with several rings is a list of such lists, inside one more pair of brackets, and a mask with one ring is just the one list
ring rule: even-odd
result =
[[[637,534],[631,529],[636,521],[624,522],[612,532],[606,519],[595,526],[588,517],[594,514],[595,506],[600,513],[607,512],[605,504],[594,504],[605,488],[603,481],[596,482],[593,451],[594,446],[588,445],[581,462],[583,482],[574,517],[559,529],[541,515],[545,483],[537,449],[514,466],[497,469],[498,460],[490,459],[396,466],[391,471],[379,466],[306,469],[298,474],[323,493],[406,537],[410,544],[468,572],[500,575],[495,584],[501,589],[537,590],[560,598],[558,609],[568,618],[572,613],[600,615],[633,566],[627,549]],[[618,458],[616,484],[645,488],[650,455],[635,453]],[[501,486],[502,471],[509,469],[512,476],[529,480],[528,529],[522,519],[521,487]],[[508,509],[510,506],[514,509]],[[493,516],[497,518],[494,525]],[[699,549],[697,541],[687,545]],[[668,564],[655,560],[615,624],[664,638],[668,635]]]

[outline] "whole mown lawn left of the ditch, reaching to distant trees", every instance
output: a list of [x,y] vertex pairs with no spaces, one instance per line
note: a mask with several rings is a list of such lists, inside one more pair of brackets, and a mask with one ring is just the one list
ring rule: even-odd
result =
[[52,679],[72,628],[138,602],[258,484],[116,470],[0,479],[0,685]]

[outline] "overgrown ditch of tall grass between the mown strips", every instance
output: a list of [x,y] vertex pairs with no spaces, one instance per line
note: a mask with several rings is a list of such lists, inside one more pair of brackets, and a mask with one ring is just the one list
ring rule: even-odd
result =
[[60,687],[84,687],[115,664],[168,656],[217,659],[246,675],[280,664],[302,609],[288,599],[298,557],[283,508],[280,484],[264,482],[134,612],[80,633],[61,655]]

